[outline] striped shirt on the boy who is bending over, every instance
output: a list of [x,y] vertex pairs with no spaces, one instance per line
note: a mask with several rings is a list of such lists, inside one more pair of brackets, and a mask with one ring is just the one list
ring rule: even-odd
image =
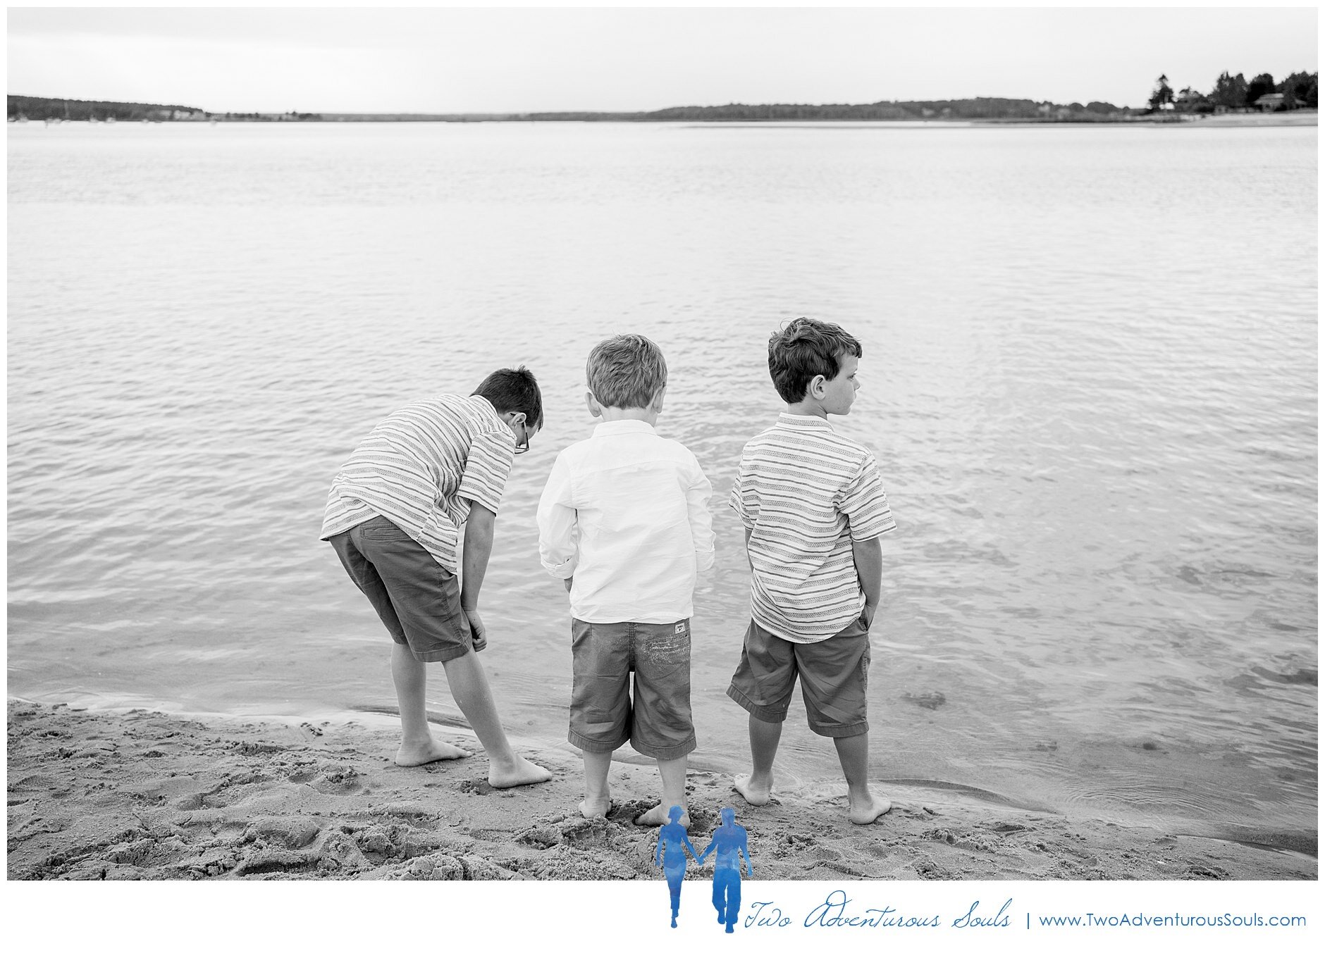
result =
[[482,396],[441,395],[387,416],[331,482],[322,538],[383,515],[454,574],[470,502],[497,511],[515,433]]

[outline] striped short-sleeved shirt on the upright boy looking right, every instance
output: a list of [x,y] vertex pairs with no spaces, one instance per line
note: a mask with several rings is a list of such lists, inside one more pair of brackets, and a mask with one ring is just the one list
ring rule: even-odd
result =
[[896,527],[874,456],[819,416],[784,412],[746,443],[731,507],[750,530],[750,616],[823,641],[864,608],[852,542]]

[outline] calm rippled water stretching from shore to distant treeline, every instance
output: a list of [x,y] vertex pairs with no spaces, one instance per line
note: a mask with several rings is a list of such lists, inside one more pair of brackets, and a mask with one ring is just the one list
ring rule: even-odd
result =
[[[563,742],[534,507],[591,428],[587,350],[639,331],[718,492],[694,762],[737,769],[722,501],[779,408],[767,334],[810,314],[864,343],[837,428],[898,521],[872,774],[1314,832],[1314,129],[32,123],[8,158],[9,694],[394,702],[326,488],[398,405],[523,362],[547,425],[484,655],[515,734]],[[431,700],[456,714],[440,672]],[[799,701],[780,763],[839,775]]]

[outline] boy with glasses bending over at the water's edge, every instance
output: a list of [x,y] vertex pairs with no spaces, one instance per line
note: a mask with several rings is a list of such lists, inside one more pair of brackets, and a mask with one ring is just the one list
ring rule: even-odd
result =
[[[337,473],[322,538],[395,644],[391,678],[400,702],[396,765],[469,753],[437,742],[424,705],[425,663],[441,663],[456,705],[488,753],[496,788],[546,782],[551,772],[517,755],[474,655],[486,643],[478,590],[493,522],[515,453],[543,424],[534,374],[497,370],[470,396],[441,395],[384,419]],[[518,444],[517,444],[518,443]],[[465,526],[464,584],[456,546]]]

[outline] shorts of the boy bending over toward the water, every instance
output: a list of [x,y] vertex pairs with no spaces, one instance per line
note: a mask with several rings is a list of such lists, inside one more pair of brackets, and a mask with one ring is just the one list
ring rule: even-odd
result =
[[444,663],[484,647],[460,611],[456,576],[395,522],[375,515],[330,542],[391,639],[416,660]]

